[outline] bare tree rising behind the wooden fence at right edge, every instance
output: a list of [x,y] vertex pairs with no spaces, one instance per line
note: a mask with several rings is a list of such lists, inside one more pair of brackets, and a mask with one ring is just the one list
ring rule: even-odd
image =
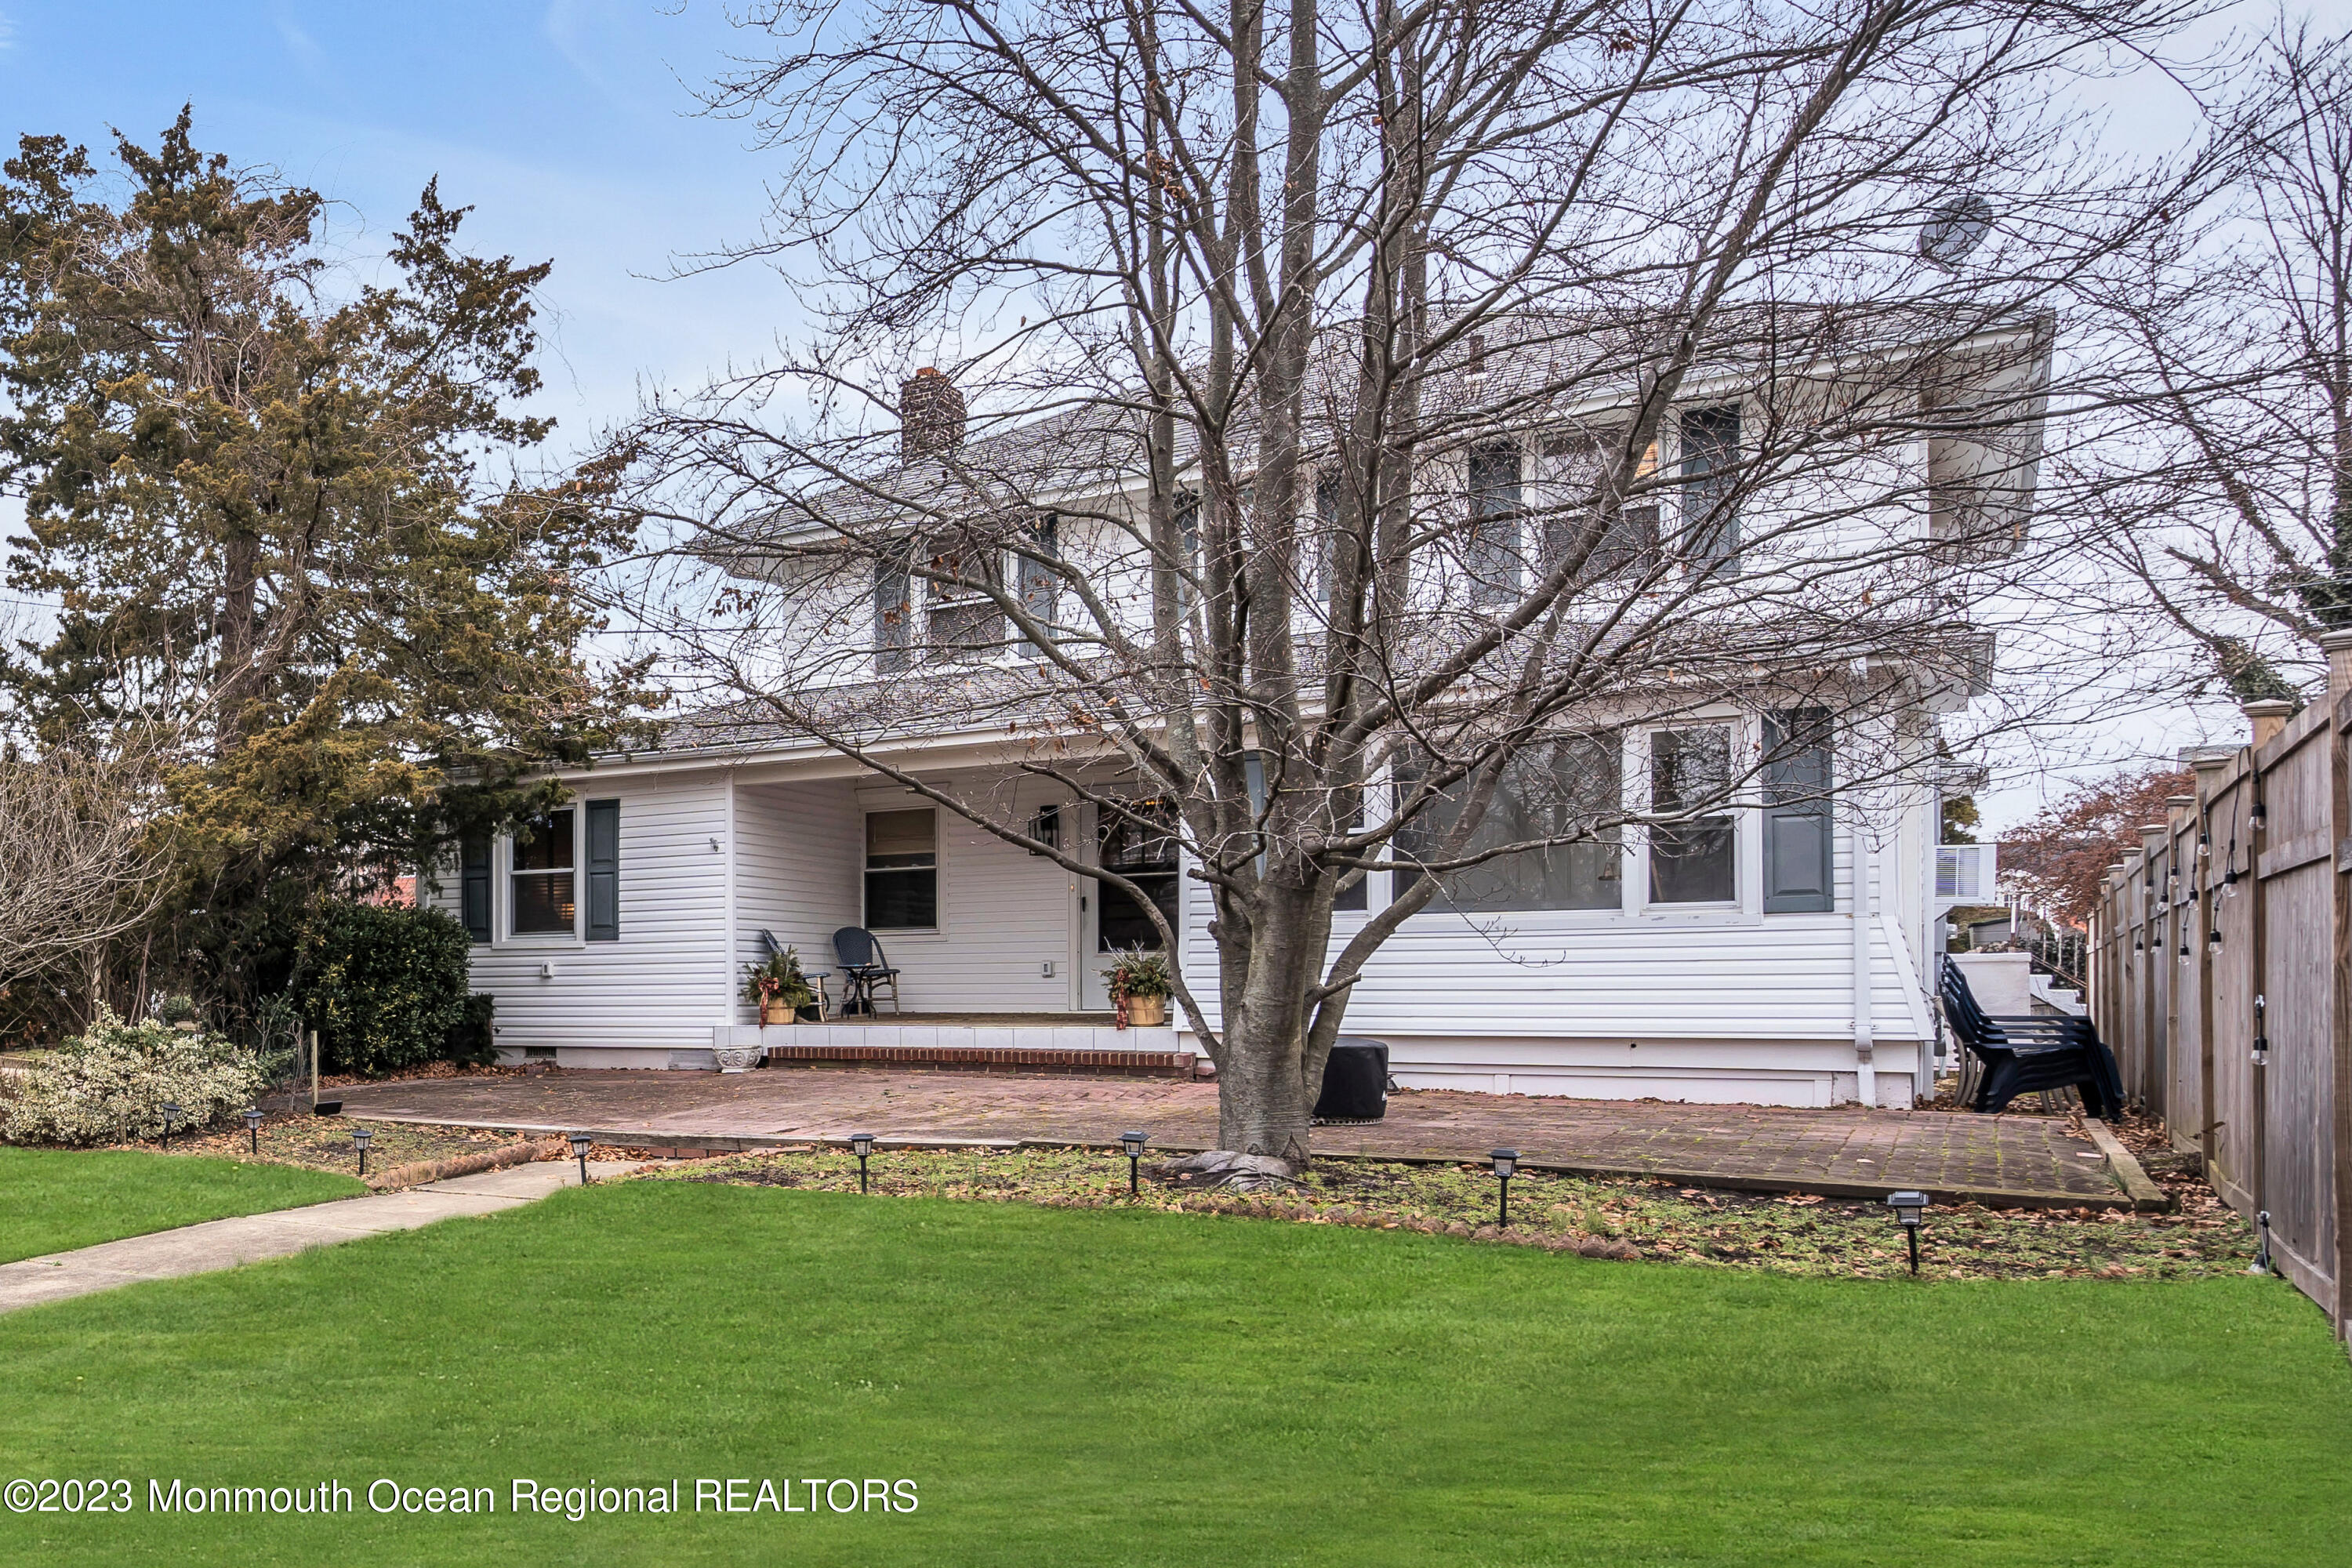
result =
[[2241,80],[2234,179],[2107,270],[2091,473],[2103,602],[2197,649],[2183,684],[2253,701],[2352,628],[2352,49],[2279,21]]

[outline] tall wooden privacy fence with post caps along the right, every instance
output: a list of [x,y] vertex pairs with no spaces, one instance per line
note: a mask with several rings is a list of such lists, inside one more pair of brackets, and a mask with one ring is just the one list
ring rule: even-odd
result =
[[2251,745],[2190,752],[2197,792],[2107,872],[2091,1018],[2124,1093],[2270,1215],[2272,1262],[2352,1331],[2352,632],[2328,693],[2249,703]]

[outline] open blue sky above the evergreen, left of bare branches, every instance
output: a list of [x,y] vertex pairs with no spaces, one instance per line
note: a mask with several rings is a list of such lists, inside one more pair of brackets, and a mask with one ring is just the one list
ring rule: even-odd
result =
[[543,411],[569,449],[640,376],[694,381],[793,322],[764,268],[659,280],[757,228],[764,160],[691,99],[741,45],[708,0],[0,0],[0,132],[101,153],[193,103],[200,146],[339,202],[362,270],[440,174],[473,249],[555,259]]

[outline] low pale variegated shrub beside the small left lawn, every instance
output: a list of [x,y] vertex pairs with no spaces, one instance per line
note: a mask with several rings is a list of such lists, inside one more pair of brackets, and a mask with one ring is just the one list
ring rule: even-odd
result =
[[38,1067],[0,1079],[7,1143],[132,1143],[174,1126],[209,1126],[252,1105],[268,1081],[261,1060],[221,1034],[160,1018],[122,1023],[108,1011]]

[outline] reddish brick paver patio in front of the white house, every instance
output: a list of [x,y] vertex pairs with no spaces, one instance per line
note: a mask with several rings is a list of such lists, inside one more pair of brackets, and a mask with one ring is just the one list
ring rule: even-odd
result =
[[[1091,1143],[1143,1128],[1160,1150],[1216,1140],[1216,1086],[1169,1079],[776,1067],[743,1074],[546,1072],[343,1091],[343,1114],[524,1131],[595,1131],[635,1147],[840,1140]],[[1449,1088],[1390,1095],[1388,1119],[1315,1128],[1331,1157],[1461,1159],[1515,1147],[1531,1166],[1689,1185],[1936,1201],[2112,1206],[2107,1157],[2051,1117],[1564,1100]],[[2124,1157],[2129,1161],[2129,1154]]]

